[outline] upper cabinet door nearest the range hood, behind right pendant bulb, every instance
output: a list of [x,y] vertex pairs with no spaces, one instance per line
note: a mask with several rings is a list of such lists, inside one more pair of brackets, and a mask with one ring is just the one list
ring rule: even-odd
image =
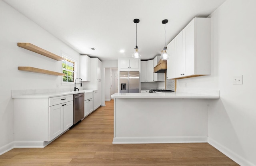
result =
[[175,40],[167,45],[170,58],[167,60],[167,79],[175,78]]

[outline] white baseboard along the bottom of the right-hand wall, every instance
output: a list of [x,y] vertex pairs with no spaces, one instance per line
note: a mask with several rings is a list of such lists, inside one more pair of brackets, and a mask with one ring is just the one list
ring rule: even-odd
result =
[[239,156],[238,154],[232,152],[230,149],[226,148],[225,146],[222,146],[221,144],[219,144],[218,142],[209,137],[208,143],[241,166],[256,166],[249,162],[248,160],[246,160],[245,158],[243,158],[242,156]]

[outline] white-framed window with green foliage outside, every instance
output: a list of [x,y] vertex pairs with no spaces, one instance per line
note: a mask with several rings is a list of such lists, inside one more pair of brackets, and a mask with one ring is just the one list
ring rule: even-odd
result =
[[76,77],[76,61],[62,56],[65,60],[62,60],[62,73],[65,76],[62,76],[62,83],[74,83]]

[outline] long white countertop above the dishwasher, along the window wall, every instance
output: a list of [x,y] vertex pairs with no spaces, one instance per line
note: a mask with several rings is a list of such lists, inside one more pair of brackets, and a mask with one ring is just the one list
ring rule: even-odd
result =
[[49,98],[49,97],[57,97],[64,95],[74,95],[76,93],[86,93],[93,92],[93,90],[80,90],[80,91],[63,91],[63,92],[53,92],[53,93],[38,93],[38,94],[30,94],[30,95],[12,95],[12,98]]

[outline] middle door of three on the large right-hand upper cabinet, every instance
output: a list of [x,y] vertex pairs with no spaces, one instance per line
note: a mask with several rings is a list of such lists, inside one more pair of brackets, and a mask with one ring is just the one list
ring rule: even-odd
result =
[[183,31],[175,38],[175,77],[184,75],[183,71]]

